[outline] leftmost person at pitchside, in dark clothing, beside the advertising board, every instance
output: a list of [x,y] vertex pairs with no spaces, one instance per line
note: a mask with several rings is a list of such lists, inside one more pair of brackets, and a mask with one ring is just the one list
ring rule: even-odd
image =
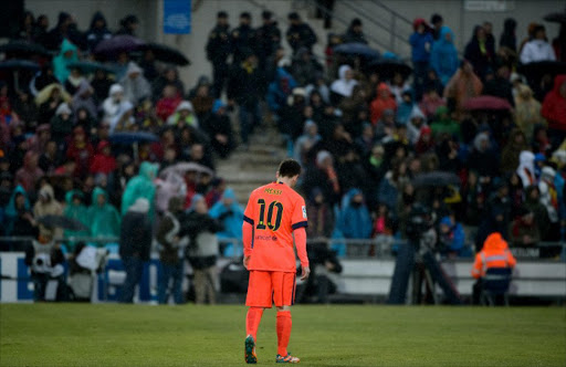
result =
[[[66,301],[66,284],[63,262],[65,258],[59,243],[53,241],[53,231],[44,229],[38,240],[25,249],[25,265],[31,268],[33,301],[45,301],[49,281],[56,281],[56,301]],[[49,295],[48,295],[49,297]]]

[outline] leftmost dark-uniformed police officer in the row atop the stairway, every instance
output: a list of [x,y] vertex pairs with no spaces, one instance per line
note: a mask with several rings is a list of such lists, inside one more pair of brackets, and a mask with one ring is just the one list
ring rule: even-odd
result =
[[230,24],[228,24],[228,13],[226,11],[218,12],[217,25],[210,31],[206,50],[207,59],[212,63],[212,76],[214,78],[212,91],[214,96],[219,98],[228,78],[230,66],[227,61],[232,52]]

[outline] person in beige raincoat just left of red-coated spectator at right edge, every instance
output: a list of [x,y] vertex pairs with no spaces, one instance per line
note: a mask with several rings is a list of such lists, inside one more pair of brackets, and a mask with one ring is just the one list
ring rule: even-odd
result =
[[533,91],[520,84],[515,95],[515,125],[527,141],[533,140],[535,125],[542,122],[541,103],[533,97]]

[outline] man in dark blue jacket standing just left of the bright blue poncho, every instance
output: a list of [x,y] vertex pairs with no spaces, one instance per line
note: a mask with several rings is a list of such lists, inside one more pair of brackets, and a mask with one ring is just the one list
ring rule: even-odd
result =
[[415,19],[412,29],[415,32],[409,38],[409,43],[411,45],[412,66],[415,69],[415,95],[417,101],[420,101],[423,92],[424,75],[429,70],[430,49],[434,40],[427,31],[427,21],[424,19]]

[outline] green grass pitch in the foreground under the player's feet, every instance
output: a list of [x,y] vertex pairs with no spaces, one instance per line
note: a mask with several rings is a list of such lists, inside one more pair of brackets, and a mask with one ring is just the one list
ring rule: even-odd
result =
[[[0,305],[0,366],[244,366],[243,306]],[[258,334],[273,365],[275,311]],[[566,366],[566,308],[295,306],[306,366]]]

